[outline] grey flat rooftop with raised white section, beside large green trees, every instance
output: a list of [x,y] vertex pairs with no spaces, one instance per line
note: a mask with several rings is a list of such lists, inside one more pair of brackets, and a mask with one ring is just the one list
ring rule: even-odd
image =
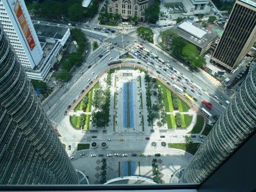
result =
[[182,38],[201,48],[207,46],[211,41],[218,37],[214,31],[199,26],[197,23],[192,25],[186,21],[173,27],[173,30]]

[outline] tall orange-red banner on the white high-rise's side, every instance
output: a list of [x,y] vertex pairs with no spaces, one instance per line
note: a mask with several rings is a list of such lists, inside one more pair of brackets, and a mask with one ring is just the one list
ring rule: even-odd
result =
[[23,11],[21,9],[21,5],[19,4],[19,1],[17,0],[14,7],[15,15],[19,21],[19,25],[21,25],[21,29],[23,31],[23,34],[26,37],[27,43],[29,44],[30,50],[33,50],[35,47],[35,41],[32,37],[31,31],[29,29],[29,26],[27,25],[27,21],[25,19],[25,16],[23,14]]

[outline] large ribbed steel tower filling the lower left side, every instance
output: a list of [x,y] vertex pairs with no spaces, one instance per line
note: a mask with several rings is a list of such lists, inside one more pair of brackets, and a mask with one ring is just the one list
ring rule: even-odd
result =
[[78,175],[0,25],[0,184],[78,182]]

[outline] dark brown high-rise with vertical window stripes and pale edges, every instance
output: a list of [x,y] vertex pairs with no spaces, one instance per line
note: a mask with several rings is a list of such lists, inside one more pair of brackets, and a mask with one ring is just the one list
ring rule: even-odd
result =
[[211,59],[232,70],[249,52],[255,39],[256,0],[237,0]]

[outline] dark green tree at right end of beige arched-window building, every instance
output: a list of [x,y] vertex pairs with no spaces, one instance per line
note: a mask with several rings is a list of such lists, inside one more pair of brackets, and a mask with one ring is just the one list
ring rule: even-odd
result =
[[149,23],[155,24],[158,21],[160,13],[160,3],[154,1],[147,9],[145,10],[145,18]]

